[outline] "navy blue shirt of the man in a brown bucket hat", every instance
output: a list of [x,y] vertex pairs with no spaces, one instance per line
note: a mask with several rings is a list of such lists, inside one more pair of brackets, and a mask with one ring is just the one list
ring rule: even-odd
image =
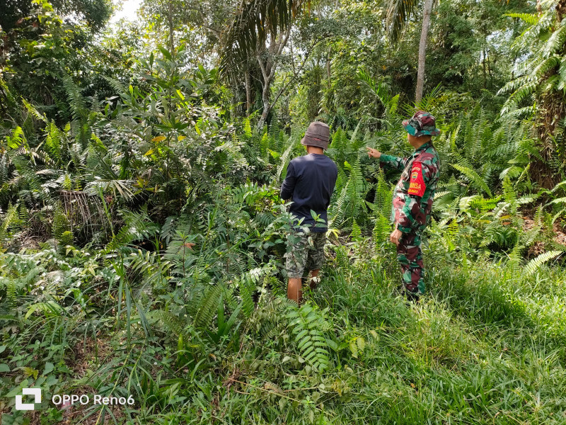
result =
[[307,154],[292,159],[287,166],[287,176],[281,186],[281,198],[291,199],[289,212],[311,226],[312,232],[326,232],[327,227],[312,227],[315,220],[311,210],[327,222],[326,210],[334,191],[338,168],[334,161],[323,154]]

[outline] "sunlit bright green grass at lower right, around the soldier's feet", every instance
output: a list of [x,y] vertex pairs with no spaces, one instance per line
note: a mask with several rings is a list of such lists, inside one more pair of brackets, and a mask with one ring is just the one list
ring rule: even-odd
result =
[[[320,311],[328,308],[329,337],[342,347],[331,351],[330,370],[309,373],[286,334],[247,339],[226,361],[226,377],[237,370],[243,383],[217,387],[209,417],[226,424],[566,422],[564,310],[553,305],[565,291],[550,283],[563,281],[563,270],[517,280],[501,264],[480,262],[467,273],[435,265],[429,295],[405,305],[381,266],[374,259],[327,268],[308,295]],[[209,420],[192,414],[183,420]]]

